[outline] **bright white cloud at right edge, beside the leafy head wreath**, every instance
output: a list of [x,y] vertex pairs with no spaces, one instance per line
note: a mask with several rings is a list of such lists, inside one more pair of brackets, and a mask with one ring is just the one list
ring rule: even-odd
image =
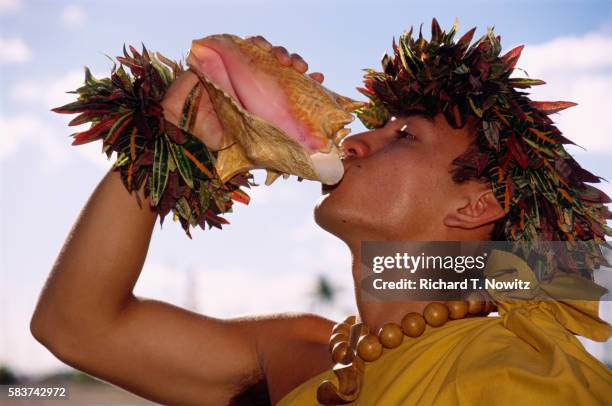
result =
[[[612,35],[587,33],[527,44],[517,64],[545,85],[528,89],[533,100],[573,101],[578,106],[553,114],[563,134],[587,151],[612,151]],[[514,76],[524,76],[517,70]]]

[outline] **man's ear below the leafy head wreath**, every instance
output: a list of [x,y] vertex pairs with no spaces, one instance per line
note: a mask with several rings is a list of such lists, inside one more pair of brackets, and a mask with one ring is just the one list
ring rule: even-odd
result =
[[444,225],[473,229],[500,219],[504,214],[493,191],[487,187],[459,201],[444,218]]

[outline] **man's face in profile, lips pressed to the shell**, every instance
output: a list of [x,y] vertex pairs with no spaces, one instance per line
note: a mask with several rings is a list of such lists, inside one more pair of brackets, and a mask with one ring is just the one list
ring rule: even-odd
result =
[[347,243],[445,239],[443,219],[462,188],[451,161],[469,146],[468,126],[443,115],[393,117],[379,129],[347,137],[345,175],[315,207],[322,228]]

